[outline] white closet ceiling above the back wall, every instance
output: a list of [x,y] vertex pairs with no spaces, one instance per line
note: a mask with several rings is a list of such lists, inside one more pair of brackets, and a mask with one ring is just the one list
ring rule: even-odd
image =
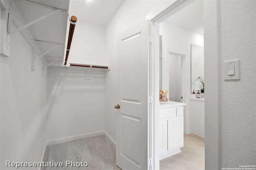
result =
[[125,0],[70,0],[69,14],[77,20],[105,26]]

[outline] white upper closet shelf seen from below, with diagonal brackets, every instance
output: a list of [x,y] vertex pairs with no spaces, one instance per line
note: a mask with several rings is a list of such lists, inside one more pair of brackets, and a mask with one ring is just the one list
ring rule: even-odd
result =
[[34,53],[38,56],[38,59],[40,58],[44,62],[44,67],[49,65],[62,66],[67,22],[75,24],[70,20],[68,14],[69,1],[11,1],[10,19],[12,19],[12,14],[20,14],[22,21],[19,21],[19,24],[12,24],[15,22],[13,20],[9,21],[8,37],[18,32],[24,34],[24,31],[29,30],[31,35],[25,36],[30,41],[32,40],[30,45],[34,46]]

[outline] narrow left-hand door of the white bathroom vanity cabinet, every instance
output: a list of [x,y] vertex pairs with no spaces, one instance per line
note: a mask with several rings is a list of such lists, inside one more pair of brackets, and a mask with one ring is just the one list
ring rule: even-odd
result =
[[159,123],[159,147],[160,154],[167,151],[167,120]]

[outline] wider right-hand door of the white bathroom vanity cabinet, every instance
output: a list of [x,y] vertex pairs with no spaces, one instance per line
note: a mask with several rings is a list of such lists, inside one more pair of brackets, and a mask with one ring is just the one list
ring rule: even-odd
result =
[[183,147],[183,117],[168,119],[168,151]]

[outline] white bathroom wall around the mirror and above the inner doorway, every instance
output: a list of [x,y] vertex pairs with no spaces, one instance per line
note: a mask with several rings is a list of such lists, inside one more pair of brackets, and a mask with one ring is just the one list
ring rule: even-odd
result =
[[[191,44],[204,46],[204,35],[184,29],[177,25],[168,22],[160,23],[160,35],[162,35],[163,50],[170,50],[173,53],[179,53],[186,55],[185,57],[185,110],[186,110],[186,133],[196,133],[192,127],[204,128],[203,124],[197,125],[196,119],[201,119],[204,115],[204,107],[202,107],[201,101],[194,101],[193,106],[190,100],[190,68],[191,68]],[[193,109],[201,107],[199,109]],[[192,121],[193,120],[193,121]],[[197,128],[196,128],[197,129]],[[204,137],[204,133],[198,134]]]

